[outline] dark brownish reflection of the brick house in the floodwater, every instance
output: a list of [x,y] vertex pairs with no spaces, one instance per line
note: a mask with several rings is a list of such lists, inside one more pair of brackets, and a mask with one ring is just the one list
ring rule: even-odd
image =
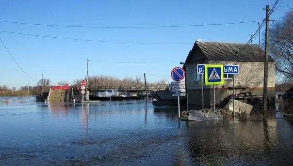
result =
[[269,155],[277,150],[275,119],[264,126],[262,121],[235,123],[187,122],[191,155],[202,165],[276,164]]

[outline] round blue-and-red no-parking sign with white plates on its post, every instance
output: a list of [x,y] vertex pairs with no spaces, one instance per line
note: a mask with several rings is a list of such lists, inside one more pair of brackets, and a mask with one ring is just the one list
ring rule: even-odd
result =
[[[185,96],[185,82],[179,82],[185,77],[185,71],[181,67],[175,67],[171,71],[171,77],[175,80],[171,82],[172,96],[178,96],[178,124],[180,125],[180,98]],[[174,91],[173,91],[174,88]],[[174,94],[174,95],[173,95]]]

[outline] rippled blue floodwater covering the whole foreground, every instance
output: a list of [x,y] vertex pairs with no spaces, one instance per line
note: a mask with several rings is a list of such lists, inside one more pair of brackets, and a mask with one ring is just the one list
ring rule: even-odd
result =
[[[145,101],[0,102],[1,166],[292,165],[293,121],[181,121]],[[1,98],[0,98],[1,101]]]

